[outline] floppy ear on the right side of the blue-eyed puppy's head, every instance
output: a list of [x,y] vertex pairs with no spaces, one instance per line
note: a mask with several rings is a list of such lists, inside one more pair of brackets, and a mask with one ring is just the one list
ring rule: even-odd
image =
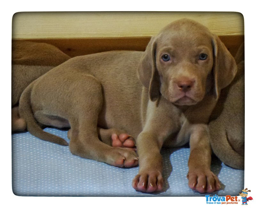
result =
[[234,57],[229,53],[217,35],[213,36],[212,45],[214,86],[216,99],[218,99],[220,90],[228,86],[234,79],[237,66]]

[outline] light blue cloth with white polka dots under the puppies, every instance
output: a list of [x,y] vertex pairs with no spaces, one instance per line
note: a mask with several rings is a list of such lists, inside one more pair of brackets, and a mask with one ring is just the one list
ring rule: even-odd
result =
[[[67,131],[45,131],[68,141]],[[69,141],[68,141],[69,142]],[[203,196],[188,187],[189,148],[163,149],[164,191],[135,191],[132,179],[139,167],[118,168],[72,155],[67,146],[40,140],[28,132],[12,135],[12,189],[18,196]],[[222,188],[214,194],[233,195],[244,188],[244,171],[219,160],[212,162]]]

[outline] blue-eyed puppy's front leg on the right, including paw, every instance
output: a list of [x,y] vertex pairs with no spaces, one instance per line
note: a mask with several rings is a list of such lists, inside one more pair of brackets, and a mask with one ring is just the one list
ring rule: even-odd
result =
[[220,189],[220,181],[210,169],[212,151],[209,137],[207,125],[192,125],[189,140],[188,186],[200,193],[211,193]]

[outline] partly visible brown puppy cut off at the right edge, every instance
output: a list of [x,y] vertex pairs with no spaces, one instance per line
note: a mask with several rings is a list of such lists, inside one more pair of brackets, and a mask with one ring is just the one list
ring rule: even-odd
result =
[[244,43],[235,60],[233,81],[221,91],[210,118],[212,151],[226,165],[244,169]]

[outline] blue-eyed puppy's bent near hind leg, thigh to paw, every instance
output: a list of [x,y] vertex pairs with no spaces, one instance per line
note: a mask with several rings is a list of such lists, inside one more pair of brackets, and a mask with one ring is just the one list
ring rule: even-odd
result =
[[[117,167],[138,165],[134,151],[112,147],[100,141],[97,131],[98,116],[102,108],[103,96],[98,80],[90,75],[80,76],[72,93],[72,118],[69,118],[69,149],[72,154],[105,162]],[[81,87],[82,86],[82,87]],[[83,99],[81,99],[83,98]]]

